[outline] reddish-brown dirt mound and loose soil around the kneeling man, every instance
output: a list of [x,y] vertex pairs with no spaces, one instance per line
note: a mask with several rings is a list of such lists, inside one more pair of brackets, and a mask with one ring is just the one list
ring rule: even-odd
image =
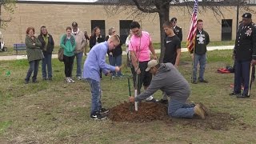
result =
[[167,125],[180,124],[184,127],[194,126],[199,129],[228,130],[230,122],[236,118],[225,113],[210,113],[205,120],[199,118],[170,118],[167,115],[167,106],[162,103],[141,102],[139,110],[135,111],[134,106],[130,110],[130,103],[123,102],[110,109],[108,116],[114,122],[152,122],[161,120]]

